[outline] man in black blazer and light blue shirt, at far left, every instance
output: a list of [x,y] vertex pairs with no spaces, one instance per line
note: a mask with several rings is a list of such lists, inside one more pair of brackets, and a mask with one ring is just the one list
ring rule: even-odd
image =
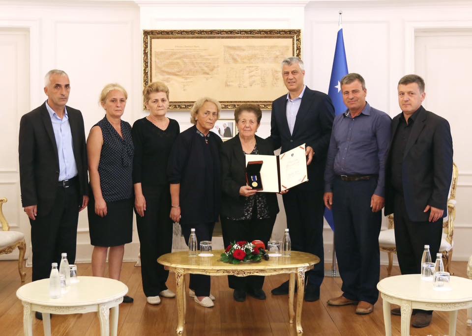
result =
[[51,263],[67,253],[75,262],[79,211],[88,202],[87,151],[82,113],[66,107],[67,74],[51,70],[48,99],[20,121],[22,204],[31,224],[32,280],[49,278]]

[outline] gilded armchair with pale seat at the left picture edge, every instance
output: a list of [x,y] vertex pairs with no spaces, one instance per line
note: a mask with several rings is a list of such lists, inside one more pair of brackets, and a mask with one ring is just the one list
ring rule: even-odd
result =
[[26,252],[25,235],[22,232],[10,231],[10,225],[8,225],[2,211],[3,203],[6,202],[6,198],[0,198],[0,222],[2,228],[2,231],[0,231],[0,254],[11,253],[18,248],[20,251],[20,256],[18,258],[18,272],[20,272],[21,282],[25,282],[26,273],[23,270]]

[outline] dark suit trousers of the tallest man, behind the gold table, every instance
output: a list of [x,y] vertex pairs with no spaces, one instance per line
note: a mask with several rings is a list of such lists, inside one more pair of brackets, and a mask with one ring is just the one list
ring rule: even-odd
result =
[[283,195],[287,227],[290,230],[292,250],[309,252],[320,258],[320,263],[308,271],[305,281],[312,290],[319,290],[324,278],[322,190],[291,189]]

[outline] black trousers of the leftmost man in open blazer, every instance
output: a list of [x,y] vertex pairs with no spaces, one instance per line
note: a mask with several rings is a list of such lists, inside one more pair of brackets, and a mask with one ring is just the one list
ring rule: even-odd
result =
[[77,246],[77,224],[80,205],[75,185],[56,187],[56,199],[48,214],[41,213],[31,224],[31,246],[33,252],[32,280],[49,278],[51,263],[60,263],[60,253],[67,253],[69,264],[75,263]]

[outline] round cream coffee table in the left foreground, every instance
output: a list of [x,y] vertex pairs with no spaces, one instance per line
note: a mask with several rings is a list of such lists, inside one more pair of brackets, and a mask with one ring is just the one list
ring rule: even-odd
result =
[[111,335],[118,332],[118,305],[128,292],[128,287],[118,281],[99,277],[79,277],[67,293],[58,299],[49,297],[49,279],[37,280],[21,286],[16,296],[23,303],[23,328],[25,335],[33,335],[33,312],[43,314],[44,335],[51,335],[51,313],[84,314],[98,312],[100,335],[110,335],[110,309],[112,311]]

